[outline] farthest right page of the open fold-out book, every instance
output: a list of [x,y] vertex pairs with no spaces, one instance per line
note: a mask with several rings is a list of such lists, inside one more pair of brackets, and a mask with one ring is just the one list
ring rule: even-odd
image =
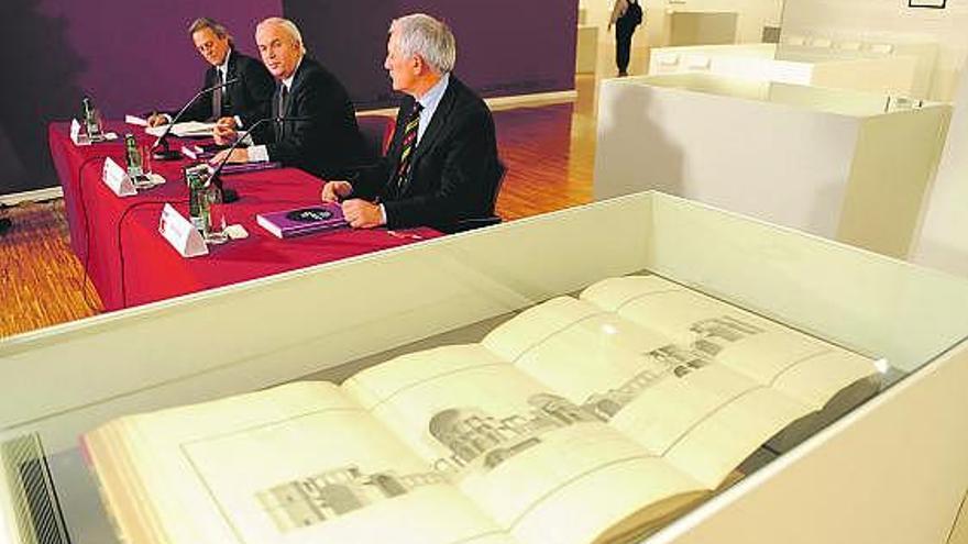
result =
[[[581,298],[815,410],[851,384],[877,376],[867,357],[658,276],[609,278],[585,289]],[[876,388],[877,380],[871,382]]]

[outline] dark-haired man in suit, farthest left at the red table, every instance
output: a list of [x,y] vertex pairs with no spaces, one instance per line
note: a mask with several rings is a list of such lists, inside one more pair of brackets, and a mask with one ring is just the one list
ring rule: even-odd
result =
[[[252,123],[270,113],[275,82],[262,63],[237,52],[232,36],[224,26],[211,19],[196,19],[188,27],[195,48],[210,64],[205,73],[202,89],[237,79],[222,89],[202,95],[182,119],[185,121],[216,121],[238,118],[241,124]],[[156,113],[148,118],[151,126],[172,121],[172,113]]]

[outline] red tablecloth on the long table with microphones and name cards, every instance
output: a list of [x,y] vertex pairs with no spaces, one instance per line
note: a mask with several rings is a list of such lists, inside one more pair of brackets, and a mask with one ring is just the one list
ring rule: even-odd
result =
[[[139,127],[111,124],[152,138]],[[70,227],[70,244],[84,263],[107,310],[143,304],[213,287],[302,268],[439,236],[432,229],[391,232],[349,229],[279,240],[255,223],[255,214],[319,202],[322,181],[295,168],[223,176],[240,199],[226,204],[229,223],[241,223],[249,237],[210,246],[209,254],[184,258],[157,231],[165,202],[187,215],[188,191],[180,178],[185,160],[154,163],[167,184],[134,197],[119,198],[102,181],[105,157],[123,165],[123,145],[77,147],[66,123],[48,129],[51,155]],[[173,144],[180,146],[177,140]]]

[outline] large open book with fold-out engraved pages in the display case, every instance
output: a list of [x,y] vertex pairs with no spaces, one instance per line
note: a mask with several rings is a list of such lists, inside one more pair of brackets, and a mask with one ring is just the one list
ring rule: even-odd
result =
[[125,417],[82,442],[134,544],[628,542],[877,376],[869,358],[629,276],[339,387]]

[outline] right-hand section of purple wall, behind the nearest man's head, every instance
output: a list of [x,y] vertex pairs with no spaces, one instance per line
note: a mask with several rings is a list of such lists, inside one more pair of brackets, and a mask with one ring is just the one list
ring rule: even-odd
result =
[[383,69],[386,31],[422,11],[450,24],[455,74],[484,96],[574,88],[578,0],[283,0],[310,53],[346,86],[358,107],[393,103]]

